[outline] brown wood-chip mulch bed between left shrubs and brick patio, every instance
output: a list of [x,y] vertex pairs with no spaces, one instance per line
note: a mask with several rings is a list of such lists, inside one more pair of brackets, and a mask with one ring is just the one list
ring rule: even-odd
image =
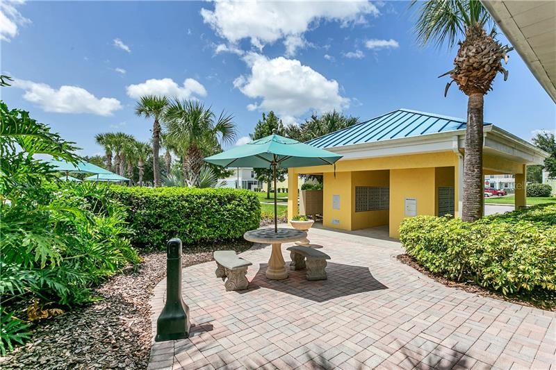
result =
[[[184,247],[183,267],[212,260],[213,251],[242,252],[252,243],[239,240]],[[166,275],[164,251],[142,255],[142,263],[129,267],[95,289],[99,301],[40,321],[33,337],[6,358],[7,369],[146,369],[151,348],[149,298]]]

